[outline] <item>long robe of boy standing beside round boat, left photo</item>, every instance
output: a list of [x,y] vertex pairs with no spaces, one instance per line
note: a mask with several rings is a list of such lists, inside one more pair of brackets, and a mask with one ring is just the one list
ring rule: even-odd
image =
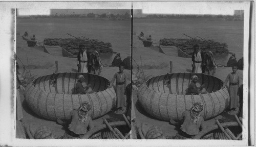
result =
[[126,77],[125,77],[124,72],[116,72],[116,74],[114,75],[114,77],[111,81],[111,85],[114,83],[115,80],[118,83],[124,82],[124,84],[122,84],[122,85],[116,84],[116,96],[117,96],[116,108],[119,108],[119,107],[122,108],[125,106],[125,103],[126,103],[125,96],[124,96]]

